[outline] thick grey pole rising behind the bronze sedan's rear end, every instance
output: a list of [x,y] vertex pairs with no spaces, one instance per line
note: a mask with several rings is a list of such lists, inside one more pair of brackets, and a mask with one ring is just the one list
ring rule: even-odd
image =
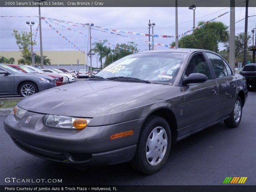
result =
[[229,64],[235,71],[235,0],[230,0]]

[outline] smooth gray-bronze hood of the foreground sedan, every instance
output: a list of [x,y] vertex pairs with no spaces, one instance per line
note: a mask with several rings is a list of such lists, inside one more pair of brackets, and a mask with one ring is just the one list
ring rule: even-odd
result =
[[179,88],[164,84],[89,80],[44,90],[22,100],[18,106],[44,114],[94,117],[170,98],[172,89],[178,91]]

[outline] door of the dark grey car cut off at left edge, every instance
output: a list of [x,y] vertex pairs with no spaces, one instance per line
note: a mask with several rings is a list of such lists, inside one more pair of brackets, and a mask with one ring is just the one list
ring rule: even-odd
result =
[[[0,71],[6,71],[0,68]],[[8,71],[6,71],[8,72]],[[0,74],[0,94],[14,94],[14,76],[10,72],[9,74]]]

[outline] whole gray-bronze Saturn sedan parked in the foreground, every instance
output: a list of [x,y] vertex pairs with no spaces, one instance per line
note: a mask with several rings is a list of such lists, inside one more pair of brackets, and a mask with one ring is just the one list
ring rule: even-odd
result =
[[[124,68],[129,77],[120,76]],[[223,120],[237,127],[247,94],[244,77],[214,52],[140,52],[22,100],[4,128],[35,156],[78,166],[130,161],[151,174],[176,141]]]

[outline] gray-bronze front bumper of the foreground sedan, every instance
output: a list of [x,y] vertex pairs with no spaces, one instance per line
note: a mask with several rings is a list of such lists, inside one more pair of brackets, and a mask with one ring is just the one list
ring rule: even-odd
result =
[[[25,124],[28,116],[31,120]],[[49,128],[43,124],[43,114],[27,112],[16,120],[13,112],[4,119],[4,129],[22,150],[52,161],[110,165],[128,162],[135,154],[143,119],[104,126],[87,126],[83,130]],[[112,134],[134,130],[128,137],[110,140]]]

